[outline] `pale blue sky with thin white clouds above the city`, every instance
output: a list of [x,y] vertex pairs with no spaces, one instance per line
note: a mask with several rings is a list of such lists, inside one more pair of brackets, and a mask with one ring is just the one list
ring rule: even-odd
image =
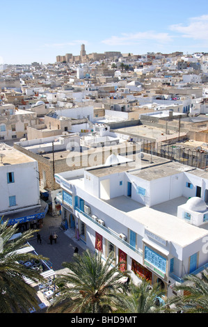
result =
[[54,63],[57,55],[208,52],[206,0],[1,1],[0,63]]

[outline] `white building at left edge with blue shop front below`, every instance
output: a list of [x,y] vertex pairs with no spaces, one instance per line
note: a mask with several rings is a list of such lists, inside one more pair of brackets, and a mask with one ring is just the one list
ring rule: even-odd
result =
[[0,216],[8,225],[41,223],[47,204],[40,200],[38,162],[4,143],[0,145]]

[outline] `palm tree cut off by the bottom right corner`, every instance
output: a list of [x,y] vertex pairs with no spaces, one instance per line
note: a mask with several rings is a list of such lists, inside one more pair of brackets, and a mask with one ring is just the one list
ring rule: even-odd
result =
[[[186,313],[208,312],[208,275],[202,272],[200,276],[189,275],[184,278],[182,285],[175,286],[175,290],[184,291],[185,295],[173,297],[177,310]],[[186,295],[187,294],[187,295]]]

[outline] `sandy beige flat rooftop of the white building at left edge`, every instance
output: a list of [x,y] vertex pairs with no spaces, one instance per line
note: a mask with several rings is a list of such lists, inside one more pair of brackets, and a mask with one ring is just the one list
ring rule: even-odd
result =
[[22,152],[19,152],[18,150],[15,150],[13,147],[10,147],[5,143],[0,143],[0,156],[1,154],[3,157],[2,159],[0,157],[0,167],[35,161],[33,158]]

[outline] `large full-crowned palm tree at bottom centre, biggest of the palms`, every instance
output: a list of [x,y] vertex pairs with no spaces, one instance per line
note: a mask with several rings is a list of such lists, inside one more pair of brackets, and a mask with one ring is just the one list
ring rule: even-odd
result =
[[106,262],[102,254],[90,254],[86,250],[82,255],[74,254],[72,262],[63,262],[70,271],[56,278],[56,285],[62,285],[61,295],[56,298],[52,307],[61,305],[61,312],[115,312],[125,308],[122,294],[126,286],[122,278],[128,272],[122,273],[118,265],[112,266],[113,257],[110,255]]

